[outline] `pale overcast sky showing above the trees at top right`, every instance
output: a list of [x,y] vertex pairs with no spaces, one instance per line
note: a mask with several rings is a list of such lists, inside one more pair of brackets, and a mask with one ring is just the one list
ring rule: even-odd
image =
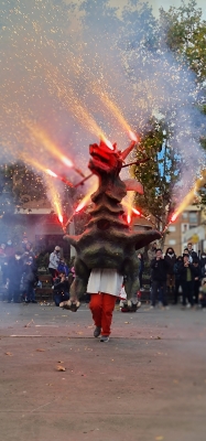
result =
[[[123,7],[128,1],[127,0],[110,0],[110,3],[113,7]],[[142,1],[143,2],[143,1]],[[148,3],[151,4],[153,12],[155,15],[159,14],[159,9],[163,7],[167,10],[170,7],[178,8],[181,6],[181,0],[148,0]],[[185,1],[185,3],[188,3]],[[203,18],[206,20],[206,1],[205,0],[196,0],[197,7],[203,10]]]

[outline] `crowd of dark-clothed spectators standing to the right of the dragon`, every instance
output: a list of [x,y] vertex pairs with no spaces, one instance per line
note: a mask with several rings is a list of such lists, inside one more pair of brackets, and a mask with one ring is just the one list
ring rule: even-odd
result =
[[[178,300],[182,308],[206,308],[206,252],[199,256],[191,243],[184,248],[182,256],[169,247],[162,249],[152,244],[148,251],[150,262],[151,309],[159,301],[167,308],[167,299],[172,297],[173,304]],[[142,287],[142,275],[140,277]]]

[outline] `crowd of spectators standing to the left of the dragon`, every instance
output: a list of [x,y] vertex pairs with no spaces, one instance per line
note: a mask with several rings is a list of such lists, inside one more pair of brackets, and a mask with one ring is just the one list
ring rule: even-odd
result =
[[[8,303],[37,303],[35,289],[42,283],[39,280],[33,244],[26,235],[23,235],[20,249],[13,247],[11,239],[0,245],[0,270],[1,287],[6,291]],[[54,302],[59,305],[61,301],[69,298],[69,287],[74,279],[74,268],[69,269],[61,256],[61,247],[55,246],[54,251],[51,252],[46,270],[52,275]]]

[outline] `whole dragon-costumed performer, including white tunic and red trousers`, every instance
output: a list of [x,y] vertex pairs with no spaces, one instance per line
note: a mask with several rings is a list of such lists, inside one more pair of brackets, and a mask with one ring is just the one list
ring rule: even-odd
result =
[[[115,299],[120,292],[123,277],[128,304],[137,303],[139,288],[137,249],[161,237],[155,230],[132,232],[124,218],[121,200],[127,195],[127,189],[143,193],[142,185],[135,180],[121,181],[119,178],[123,161],[134,144],[132,141],[123,152],[118,151],[116,144],[111,150],[102,141],[99,146],[89,147],[91,159],[88,168],[99,178],[98,190],[91,195],[94,204],[90,209],[91,217],[82,235],[64,237],[76,248],[77,256],[71,299],[63,302],[64,304],[61,303],[61,306],[76,310],[80,297],[85,292],[91,293],[90,309],[96,327],[102,329],[107,322],[106,330],[96,332],[100,334],[101,331],[102,337],[108,336],[110,332],[109,322]],[[107,295],[109,300],[106,301]]]

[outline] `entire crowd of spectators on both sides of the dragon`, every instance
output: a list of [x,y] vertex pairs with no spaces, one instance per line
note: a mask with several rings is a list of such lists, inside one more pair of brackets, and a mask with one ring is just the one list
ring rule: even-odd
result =
[[[196,305],[206,308],[206,252],[198,256],[188,243],[181,256],[176,256],[172,247],[163,254],[156,243],[153,243],[147,257],[151,309],[156,303],[169,308],[171,299],[173,304],[181,303],[183,309]],[[143,291],[143,254],[139,252],[138,258],[140,291]],[[33,245],[26,235],[23,236],[19,250],[13,247],[11,239],[0,245],[0,268],[8,302],[36,303],[35,289],[41,287],[41,281]],[[69,266],[66,263],[58,245],[48,256],[47,271],[52,276],[53,299],[58,306],[62,301],[69,299],[69,288],[75,278],[73,262]],[[87,293],[85,300],[89,301]]]

